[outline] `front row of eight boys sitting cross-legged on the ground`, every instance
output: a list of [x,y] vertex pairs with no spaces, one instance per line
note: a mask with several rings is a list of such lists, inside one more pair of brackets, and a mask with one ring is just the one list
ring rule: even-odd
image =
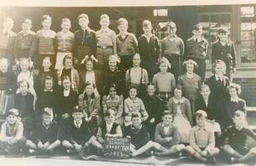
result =
[[256,157],[256,147],[252,149],[247,147],[247,136],[256,140],[256,134],[245,127],[246,115],[241,110],[234,112],[232,118],[234,124],[221,134],[220,149],[216,147],[214,130],[211,124],[207,123],[207,114],[203,110],[195,112],[196,126],[189,131],[189,144],[180,142],[177,126],[173,122],[173,114],[168,110],[163,112],[162,122],[156,126],[155,142],[150,140],[146,126],[141,124],[142,118],[139,112],[131,114],[131,124],[122,132],[121,126],[115,122],[115,111],[107,110],[98,128],[97,136],[91,134],[88,122],[84,120],[83,110],[78,106],[73,108],[73,119],[63,128],[59,128],[53,116],[51,108],[44,108],[42,121],[34,126],[31,139],[27,140],[23,136],[24,127],[20,121],[19,111],[9,110],[6,122],[1,126],[0,150],[9,154],[17,153],[24,150],[26,144],[29,153],[36,151],[53,154],[54,149],[62,144],[67,153],[73,151],[83,155],[92,153],[94,149],[97,154],[102,154],[106,136],[124,136],[131,138],[130,153],[133,157],[143,153],[151,155],[152,149],[155,156],[182,154],[181,152],[186,150],[192,157],[210,163],[216,163],[214,157],[220,153],[220,149],[230,155],[231,163],[244,162]]

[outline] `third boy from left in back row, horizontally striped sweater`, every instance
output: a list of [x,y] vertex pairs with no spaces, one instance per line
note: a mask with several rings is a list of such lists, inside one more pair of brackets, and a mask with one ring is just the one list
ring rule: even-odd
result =
[[[42,64],[42,60],[45,56],[49,56],[51,59],[51,63],[55,65],[56,61],[56,52],[57,52],[57,44],[56,44],[56,33],[52,30],[52,18],[50,15],[43,15],[42,20],[42,30],[38,30],[36,32],[36,48],[38,50],[38,65]],[[40,67],[40,71],[42,71],[42,67]]]

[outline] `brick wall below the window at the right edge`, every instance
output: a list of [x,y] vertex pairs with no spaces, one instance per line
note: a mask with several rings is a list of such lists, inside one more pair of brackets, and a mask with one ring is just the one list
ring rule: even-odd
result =
[[242,93],[240,97],[245,99],[247,106],[256,106],[256,78],[235,78],[234,83],[241,85]]

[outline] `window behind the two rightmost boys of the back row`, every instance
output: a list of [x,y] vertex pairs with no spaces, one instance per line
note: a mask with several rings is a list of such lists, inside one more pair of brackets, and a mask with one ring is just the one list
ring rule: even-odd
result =
[[230,13],[200,13],[199,23],[203,26],[203,37],[208,42],[207,67],[211,64],[212,44],[218,40],[218,28],[228,28],[230,38]]

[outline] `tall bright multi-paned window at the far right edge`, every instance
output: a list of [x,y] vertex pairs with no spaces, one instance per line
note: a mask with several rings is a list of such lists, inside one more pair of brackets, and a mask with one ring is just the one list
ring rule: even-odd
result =
[[254,7],[243,6],[241,9],[241,62],[256,63],[255,36],[256,17]]

